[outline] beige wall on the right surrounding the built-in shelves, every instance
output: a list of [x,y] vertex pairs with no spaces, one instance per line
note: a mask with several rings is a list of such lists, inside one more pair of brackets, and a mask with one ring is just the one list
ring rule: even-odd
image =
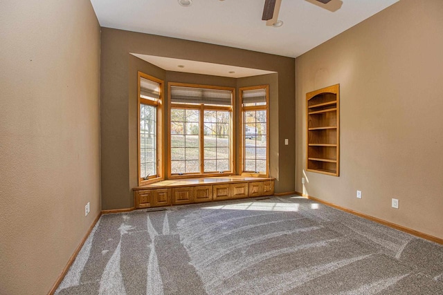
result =
[[442,16],[441,0],[401,0],[296,59],[297,191],[305,95],[340,83],[341,175],[306,172],[305,192],[443,238]]

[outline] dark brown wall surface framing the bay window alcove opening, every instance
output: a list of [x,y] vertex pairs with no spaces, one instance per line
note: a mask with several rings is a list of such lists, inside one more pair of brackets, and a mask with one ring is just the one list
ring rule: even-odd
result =
[[[132,55],[158,55],[179,59],[191,59],[217,64],[244,66],[278,72],[279,126],[275,138],[284,142],[289,138],[289,146],[279,145],[279,179],[275,191],[293,191],[295,176],[294,118],[294,59],[265,53],[204,44],[137,32],[102,28],[101,35],[101,172],[102,209],[120,209],[134,206],[132,184],[134,183],[134,158],[130,146],[134,137],[130,134],[134,126],[129,126],[134,108],[129,95],[129,62]],[[132,62],[132,61],[131,61]],[[130,75],[133,75],[132,73]],[[135,104],[136,106],[136,104]],[[130,171],[131,170],[131,171]],[[136,180],[136,178],[135,178]]]

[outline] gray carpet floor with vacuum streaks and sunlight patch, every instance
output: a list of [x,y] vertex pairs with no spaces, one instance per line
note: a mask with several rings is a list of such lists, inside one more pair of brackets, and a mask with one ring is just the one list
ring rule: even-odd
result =
[[100,218],[56,294],[443,294],[443,247],[299,196]]

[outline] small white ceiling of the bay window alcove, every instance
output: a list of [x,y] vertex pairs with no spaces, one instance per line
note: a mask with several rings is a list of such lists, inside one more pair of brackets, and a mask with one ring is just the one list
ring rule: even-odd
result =
[[[213,75],[221,77],[242,78],[257,75],[266,75],[275,72],[269,70],[258,70],[256,68],[242,68],[240,66],[227,66],[226,64],[213,64],[203,61],[193,61],[188,59],[174,59],[170,57],[157,57],[154,55],[141,55],[131,53],[132,55],[154,64],[164,70],[173,70],[175,72],[194,73],[202,75]],[[179,67],[180,66],[180,67]]]

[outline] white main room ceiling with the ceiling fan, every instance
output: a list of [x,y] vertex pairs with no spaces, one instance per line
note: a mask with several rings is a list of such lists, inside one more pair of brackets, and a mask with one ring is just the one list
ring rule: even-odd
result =
[[336,12],[309,1],[282,0],[280,28],[262,21],[264,0],[193,0],[190,7],[177,0],[91,3],[102,27],[298,57],[399,0],[332,0],[343,1]]

